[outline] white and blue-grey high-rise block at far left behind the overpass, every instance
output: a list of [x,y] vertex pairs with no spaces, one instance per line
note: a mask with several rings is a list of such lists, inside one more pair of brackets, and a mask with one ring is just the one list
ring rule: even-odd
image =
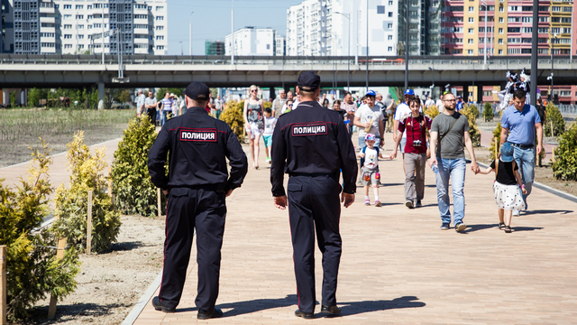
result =
[[14,21],[3,30],[4,52],[168,51],[166,0],[2,0],[2,5],[8,9],[3,21]]

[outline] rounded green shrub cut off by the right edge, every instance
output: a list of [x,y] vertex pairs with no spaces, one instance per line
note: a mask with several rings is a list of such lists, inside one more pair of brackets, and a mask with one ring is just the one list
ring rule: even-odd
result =
[[555,161],[552,163],[553,175],[558,180],[577,181],[577,123],[573,122],[558,139],[559,146],[554,149]]

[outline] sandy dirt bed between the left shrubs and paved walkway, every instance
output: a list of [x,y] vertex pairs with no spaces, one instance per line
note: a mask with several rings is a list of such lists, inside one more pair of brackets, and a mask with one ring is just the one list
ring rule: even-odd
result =
[[80,255],[77,290],[58,302],[54,320],[46,320],[49,297],[19,324],[122,323],[162,269],[164,218],[122,216],[117,239],[110,253]]

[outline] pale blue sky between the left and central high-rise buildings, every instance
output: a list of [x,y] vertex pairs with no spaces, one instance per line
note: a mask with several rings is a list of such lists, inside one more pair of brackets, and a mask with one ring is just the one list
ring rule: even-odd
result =
[[[286,36],[287,9],[303,0],[234,0],[234,31],[244,26],[270,27]],[[205,41],[223,41],[231,33],[233,0],[167,0],[169,55],[188,55],[192,14],[192,53],[205,55]],[[180,43],[182,42],[182,43]]]

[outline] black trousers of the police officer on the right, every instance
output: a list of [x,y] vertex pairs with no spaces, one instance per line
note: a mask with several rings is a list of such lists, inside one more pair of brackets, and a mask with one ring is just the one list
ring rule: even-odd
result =
[[341,185],[334,176],[291,176],[287,189],[298,309],[315,311],[315,232],[323,254],[322,304],[334,306],[342,250]]

